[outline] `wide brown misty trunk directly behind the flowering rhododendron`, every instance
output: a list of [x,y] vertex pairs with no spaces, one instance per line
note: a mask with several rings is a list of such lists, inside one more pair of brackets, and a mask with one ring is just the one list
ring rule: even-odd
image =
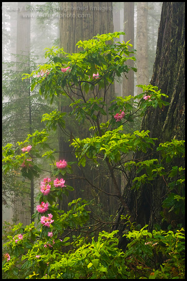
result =
[[[63,15],[60,18],[60,46],[64,48],[65,52],[78,52],[79,49],[75,45],[79,40],[89,40],[97,34],[105,34],[109,32],[112,33],[114,30],[112,2],[62,2],[60,5],[60,12]],[[109,103],[112,99],[114,99],[113,85],[111,87],[111,90],[108,91],[107,102]],[[71,110],[69,105],[59,105],[59,109],[65,112],[69,112]],[[79,131],[81,134],[81,126],[79,124],[77,124],[77,126],[80,128]],[[72,133],[74,134],[73,127],[68,129],[70,133],[72,131]],[[80,137],[85,137],[87,131],[85,129],[82,131],[84,131],[84,136],[82,134]],[[63,151],[59,154],[59,159],[66,159],[67,161],[72,161],[72,155],[70,153],[72,147],[69,147],[70,143],[65,142],[65,138],[61,132],[59,132],[58,135],[58,143],[59,150]],[[65,153],[65,151],[69,152]],[[85,169],[88,168],[85,167]],[[89,168],[89,171],[87,171],[86,174],[90,176],[90,181],[94,181],[97,178],[97,172],[99,171],[91,171]],[[80,170],[77,167],[74,167],[74,174],[76,176],[82,176]],[[103,181],[102,178],[101,181]],[[63,200],[63,202],[60,202],[59,207],[62,207],[64,210],[66,210],[66,206],[68,205],[69,201],[82,196],[86,198],[85,196],[90,196],[93,191],[91,186],[83,180],[75,179],[68,181],[67,184],[72,185],[74,187],[74,192],[70,192],[69,198],[66,198]],[[112,186],[109,180],[107,186],[105,186],[105,190],[111,193],[111,188]],[[82,194],[81,190],[85,191],[84,194]],[[116,205],[116,202],[114,203],[114,200],[111,197],[108,197],[107,200],[106,195],[99,195],[99,197],[100,202],[103,203],[108,209],[111,208],[112,210],[113,206]]]

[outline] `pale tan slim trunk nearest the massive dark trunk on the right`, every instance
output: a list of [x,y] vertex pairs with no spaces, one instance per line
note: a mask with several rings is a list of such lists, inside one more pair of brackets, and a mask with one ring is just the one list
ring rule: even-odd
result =
[[[137,3],[137,85],[149,83],[148,73],[148,2]],[[138,88],[138,93],[141,89]]]

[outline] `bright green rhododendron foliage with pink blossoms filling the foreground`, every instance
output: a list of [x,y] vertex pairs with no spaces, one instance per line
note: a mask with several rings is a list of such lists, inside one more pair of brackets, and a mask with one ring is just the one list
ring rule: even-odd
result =
[[[107,101],[107,94],[114,80],[126,74],[132,52],[129,42],[115,42],[121,32],[97,35],[88,41],[77,43],[80,52],[67,54],[63,49],[48,49],[49,62],[39,65],[31,75],[31,90],[40,86],[39,94],[50,99],[64,95],[71,100],[72,112],[52,111],[43,115],[46,129],[29,134],[14,149],[11,144],[3,148],[3,172],[21,169],[22,176],[39,177],[37,158],[45,157],[51,162],[51,175],[40,183],[38,205],[30,225],[6,224],[4,226],[3,274],[5,279],[172,279],[184,278],[184,228],[177,225],[171,230],[155,229],[149,232],[148,225],[138,227],[132,221],[131,212],[121,195],[116,176],[121,173],[128,178],[134,168],[139,177],[133,181],[132,189],[162,177],[167,180],[167,196],[163,208],[168,212],[184,215],[184,167],[169,163],[184,157],[184,141],[172,139],[159,144],[150,160],[129,159],[132,152],[147,150],[155,146],[155,138],[149,131],[128,133],[126,125],[143,116],[148,107],[167,106],[167,95],[152,85],[138,85],[142,93],[136,97],[116,97]],[[60,55],[60,56],[59,56]],[[127,64],[126,64],[127,63]],[[137,101],[136,101],[137,100]],[[57,126],[66,133],[65,116],[75,115],[77,124],[90,122],[90,137],[80,139],[73,136],[71,146],[77,162],[66,159],[55,160],[54,151],[48,145],[51,130]],[[70,117],[69,117],[70,118]],[[118,248],[118,231],[106,232],[105,222],[90,220],[90,202],[75,198],[69,202],[69,210],[58,208],[63,200],[78,186],[69,186],[68,176],[72,165],[85,167],[88,161],[99,167],[106,163],[113,183],[113,194],[127,211],[121,223],[130,227],[124,231],[128,241],[123,252]],[[166,165],[167,164],[167,165]],[[59,173],[63,178],[59,177]],[[94,186],[94,185],[93,185]],[[154,186],[153,186],[154,188]],[[102,192],[105,190],[101,190]],[[164,214],[162,214],[163,220]],[[111,224],[114,222],[111,222]],[[102,228],[103,227],[103,228]],[[96,229],[99,229],[96,233]]]

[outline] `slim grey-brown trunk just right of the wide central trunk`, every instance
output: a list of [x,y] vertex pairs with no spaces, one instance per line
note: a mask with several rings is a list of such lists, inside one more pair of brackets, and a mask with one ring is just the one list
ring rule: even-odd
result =
[[[129,40],[133,47],[129,47],[129,51],[134,49],[134,2],[124,2],[124,41]],[[134,54],[132,54],[133,56]],[[131,56],[131,55],[130,55]],[[134,67],[134,61],[128,60],[128,65]],[[131,70],[126,74],[127,78],[123,78],[122,96],[134,96],[134,72]]]

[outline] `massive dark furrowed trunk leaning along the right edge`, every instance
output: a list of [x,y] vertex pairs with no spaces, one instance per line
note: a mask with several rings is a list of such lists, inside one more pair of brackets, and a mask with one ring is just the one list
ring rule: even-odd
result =
[[[169,106],[149,109],[143,117],[141,130],[150,130],[151,137],[157,137],[156,147],[159,143],[184,139],[184,2],[164,2],[162,6],[160,27],[158,31],[158,42],[156,59],[153,68],[153,77],[150,82],[161,89],[162,93],[169,96]],[[154,154],[154,151],[150,151]],[[147,155],[149,155],[149,153]],[[159,155],[156,155],[159,158]],[[135,159],[141,159],[142,153],[136,153]],[[143,158],[143,160],[149,159]],[[180,159],[179,165],[184,165],[184,160]],[[173,166],[178,163],[172,163]],[[171,165],[172,165],[171,164]],[[179,166],[179,167],[180,167]],[[169,165],[167,168],[171,168]],[[149,224],[152,230],[154,224],[160,224],[167,228],[168,224],[162,224],[160,212],[161,204],[167,193],[167,185],[162,178],[153,181],[153,186],[142,186],[138,191],[131,190],[132,180],[136,176],[136,171],[132,171],[128,184],[124,189],[125,198],[134,220],[137,224],[144,226]],[[116,222],[120,222],[120,215],[126,215],[122,206],[119,207]],[[178,223],[182,223],[183,218],[178,218]],[[123,226],[112,227],[119,230],[122,236]],[[125,244],[121,238],[119,247]]]

